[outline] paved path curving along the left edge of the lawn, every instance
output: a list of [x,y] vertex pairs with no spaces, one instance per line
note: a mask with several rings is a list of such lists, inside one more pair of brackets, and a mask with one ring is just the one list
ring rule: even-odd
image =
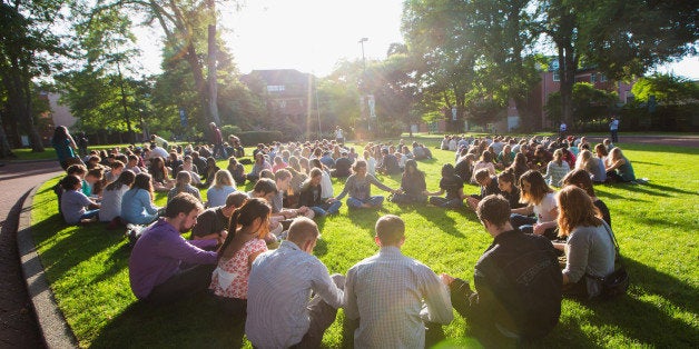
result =
[[57,161],[0,167],[0,348],[43,348],[17,250],[17,225],[31,188],[61,173]]

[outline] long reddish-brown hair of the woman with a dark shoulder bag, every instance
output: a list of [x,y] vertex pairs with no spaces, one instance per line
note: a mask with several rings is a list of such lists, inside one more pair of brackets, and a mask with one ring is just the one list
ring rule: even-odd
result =
[[568,237],[577,227],[598,227],[602,215],[581,188],[567,186],[555,196],[559,207],[559,237]]

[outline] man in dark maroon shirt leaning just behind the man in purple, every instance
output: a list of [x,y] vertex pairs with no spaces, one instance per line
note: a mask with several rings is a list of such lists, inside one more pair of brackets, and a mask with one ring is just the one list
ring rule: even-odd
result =
[[197,222],[191,228],[190,240],[218,239],[224,231],[228,231],[228,223],[233,212],[243,206],[247,195],[236,191],[228,195],[226,205],[211,207],[197,217]]

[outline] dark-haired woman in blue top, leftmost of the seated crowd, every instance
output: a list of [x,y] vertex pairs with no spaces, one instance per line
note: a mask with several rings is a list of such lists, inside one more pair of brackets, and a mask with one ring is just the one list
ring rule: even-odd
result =
[[66,176],[61,180],[61,188],[65,191],[60,197],[60,208],[67,223],[77,225],[99,215],[99,203],[82,193],[82,180],[78,176]]

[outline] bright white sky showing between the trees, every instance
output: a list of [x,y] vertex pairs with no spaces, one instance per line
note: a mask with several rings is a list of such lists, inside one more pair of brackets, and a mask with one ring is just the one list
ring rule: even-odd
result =
[[[242,73],[253,69],[297,69],[316,76],[341,59],[383,59],[392,42],[403,42],[403,0],[248,0],[239,11],[219,8],[224,39]],[[152,40],[154,36],[149,34]],[[142,36],[141,36],[142,38]],[[146,40],[149,41],[149,40]],[[160,44],[141,43],[145,68],[159,71]],[[699,80],[699,58],[661,67]]]

